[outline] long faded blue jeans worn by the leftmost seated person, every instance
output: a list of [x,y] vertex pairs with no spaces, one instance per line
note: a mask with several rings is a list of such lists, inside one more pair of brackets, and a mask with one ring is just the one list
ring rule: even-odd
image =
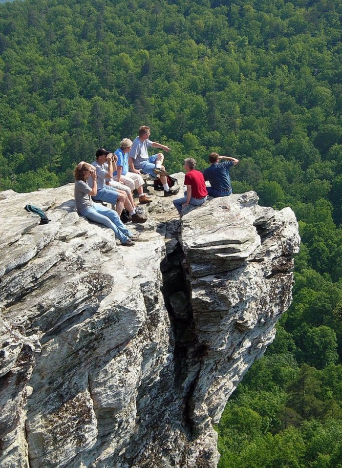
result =
[[118,213],[106,208],[100,203],[94,203],[91,207],[82,211],[81,216],[85,216],[90,221],[104,224],[107,228],[114,231],[115,237],[123,244],[128,241],[128,238],[133,234],[128,231],[124,223],[121,222]]

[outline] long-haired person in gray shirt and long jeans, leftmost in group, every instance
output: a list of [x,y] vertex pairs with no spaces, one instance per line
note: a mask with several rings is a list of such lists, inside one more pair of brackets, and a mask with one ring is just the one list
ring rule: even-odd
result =
[[[131,247],[135,237],[120,221],[118,213],[106,208],[100,203],[93,203],[91,196],[97,194],[96,169],[91,164],[81,161],[74,170],[75,176],[75,201],[76,209],[80,216],[85,216],[90,221],[104,224],[110,228],[122,245]],[[92,188],[87,181],[92,180]]]

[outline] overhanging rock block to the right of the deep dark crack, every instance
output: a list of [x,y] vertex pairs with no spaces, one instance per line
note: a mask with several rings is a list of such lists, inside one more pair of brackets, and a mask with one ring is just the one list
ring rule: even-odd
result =
[[276,212],[257,201],[255,192],[216,198],[182,220],[195,336],[205,356],[190,403],[197,425],[207,414],[219,421],[291,303],[297,221],[289,208]]

